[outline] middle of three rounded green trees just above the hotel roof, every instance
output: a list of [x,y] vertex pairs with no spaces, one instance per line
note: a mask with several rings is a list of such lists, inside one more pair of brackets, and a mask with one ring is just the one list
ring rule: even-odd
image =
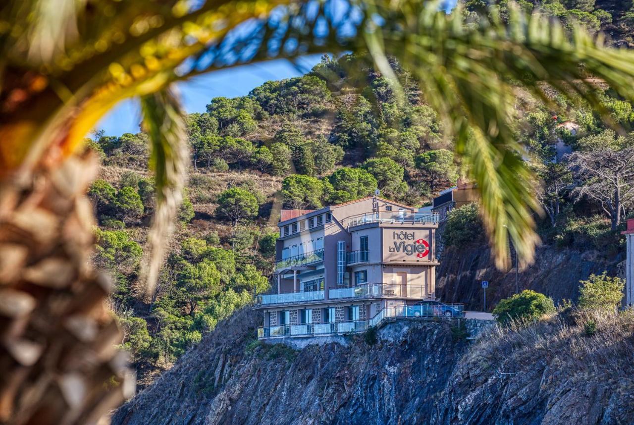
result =
[[328,176],[332,186],[328,192],[331,204],[340,204],[350,200],[372,195],[377,189],[377,180],[361,168],[340,168]]

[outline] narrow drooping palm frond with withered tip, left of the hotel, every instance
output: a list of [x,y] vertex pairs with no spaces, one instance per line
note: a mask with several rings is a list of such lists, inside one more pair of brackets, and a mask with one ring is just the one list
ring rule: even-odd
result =
[[150,249],[143,270],[146,291],[152,293],[167,236],[174,229],[183,197],[189,155],[180,103],[170,89],[143,96],[141,110],[143,127],[150,136],[150,169],[155,180],[155,211],[148,233]]

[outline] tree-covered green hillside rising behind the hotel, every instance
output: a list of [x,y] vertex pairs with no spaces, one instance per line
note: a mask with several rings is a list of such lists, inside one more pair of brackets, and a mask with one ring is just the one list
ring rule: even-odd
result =
[[[466,3],[475,13],[478,1]],[[577,16],[588,25],[598,22],[597,29],[610,32],[614,42],[629,42],[631,5],[533,3],[564,20]],[[110,306],[124,329],[122,346],[133,354],[139,388],[169,369],[219,320],[269,290],[281,208],[347,202],[377,188],[389,199],[428,206],[459,176],[469,176],[415,79],[394,67],[404,101],[366,58],[324,56],[302,77],[266,82],[247,96],[213,98],[205,112],[189,114],[189,181],[152,296],[139,282],[153,214],[147,136],[142,131],[94,134],[89,144],[103,163],[100,179],[89,190],[99,219],[94,261],[115,277]],[[613,121],[631,129],[632,105],[597,90]],[[614,202],[614,191],[593,185],[592,169],[578,172],[557,162],[559,149],[573,152],[581,164],[601,155],[629,160],[632,136],[605,128],[583,103],[553,97],[556,107],[518,98],[515,130],[529,165],[546,183],[540,193],[545,215],[536,217],[543,245],[536,263],[521,273],[520,287],[555,300],[575,299],[579,279],[604,270],[616,273],[624,245],[618,232],[634,192],[612,209],[618,213],[606,213],[602,206]],[[438,288],[446,301],[479,308],[481,291],[474,282],[490,280],[489,300],[495,303],[514,291],[514,270],[495,270],[474,214],[456,210],[452,220],[463,227],[453,235],[476,229],[477,242],[446,237]],[[575,267],[574,273],[566,272],[567,265]]]

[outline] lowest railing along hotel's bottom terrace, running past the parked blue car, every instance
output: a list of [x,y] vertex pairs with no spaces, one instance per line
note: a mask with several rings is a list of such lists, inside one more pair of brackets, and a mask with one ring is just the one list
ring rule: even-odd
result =
[[[368,327],[378,326],[384,320],[392,318],[463,318],[465,313],[462,304],[430,304],[431,306],[394,306],[385,307],[369,320],[353,320],[324,324],[297,324],[261,326],[257,329],[257,337],[273,338],[283,336],[324,336],[365,332]],[[447,312],[450,312],[448,314]]]

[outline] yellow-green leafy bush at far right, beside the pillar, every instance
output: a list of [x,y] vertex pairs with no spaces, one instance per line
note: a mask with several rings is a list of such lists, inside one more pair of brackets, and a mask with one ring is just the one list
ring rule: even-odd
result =
[[600,275],[590,275],[588,280],[579,280],[579,283],[581,310],[616,312],[623,299],[625,281],[622,278],[608,276],[604,271]]

